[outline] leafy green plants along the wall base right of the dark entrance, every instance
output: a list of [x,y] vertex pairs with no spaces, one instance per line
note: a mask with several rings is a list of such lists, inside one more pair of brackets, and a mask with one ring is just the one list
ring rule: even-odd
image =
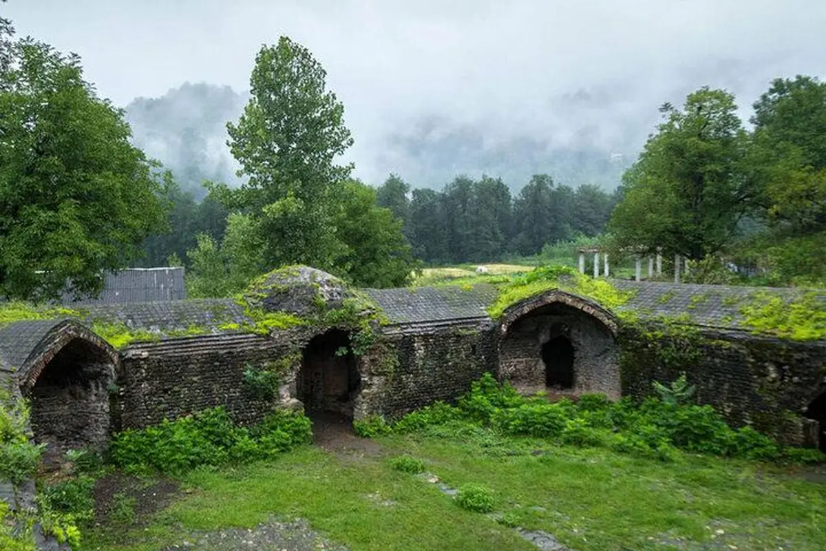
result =
[[719,457],[780,463],[826,460],[814,449],[783,448],[751,427],[733,429],[711,406],[687,403],[692,390],[685,378],[670,386],[655,385],[662,399],[635,403],[625,397],[609,401],[600,394],[577,402],[549,403],[544,397],[523,397],[509,383],[487,373],[457,406],[437,402],[395,423],[381,417],[359,421],[359,435],[406,434],[451,423],[478,425],[504,435],[550,439],[558,444],[605,447],[643,458],[672,461],[679,450]]

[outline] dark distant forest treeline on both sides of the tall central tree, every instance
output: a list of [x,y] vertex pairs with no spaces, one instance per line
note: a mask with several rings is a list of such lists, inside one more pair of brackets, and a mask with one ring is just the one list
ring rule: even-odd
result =
[[[145,243],[139,266],[188,264],[187,252],[205,233],[220,241],[228,212],[211,197],[198,201],[169,180],[166,201],[172,207],[169,233]],[[513,197],[501,178],[455,178],[442,191],[411,188],[392,174],[377,189],[377,204],[404,222],[415,258],[425,264],[491,262],[507,255],[539,254],[543,245],[594,236],[605,231],[619,191],[608,193],[583,184],[571,188],[535,175]]]

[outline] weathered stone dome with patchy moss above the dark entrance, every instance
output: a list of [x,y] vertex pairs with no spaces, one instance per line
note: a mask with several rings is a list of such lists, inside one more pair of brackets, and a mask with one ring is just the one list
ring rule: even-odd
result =
[[344,280],[330,273],[309,266],[287,266],[255,280],[244,292],[244,300],[264,311],[304,317],[338,308],[350,294]]

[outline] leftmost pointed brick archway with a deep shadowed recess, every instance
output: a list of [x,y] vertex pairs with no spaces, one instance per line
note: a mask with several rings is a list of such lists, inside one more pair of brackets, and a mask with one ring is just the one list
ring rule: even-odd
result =
[[106,448],[118,361],[112,346],[74,321],[59,322],[36,345],[21,368],[21,393],[35,441],[46,444],[45,463],[69,449]]

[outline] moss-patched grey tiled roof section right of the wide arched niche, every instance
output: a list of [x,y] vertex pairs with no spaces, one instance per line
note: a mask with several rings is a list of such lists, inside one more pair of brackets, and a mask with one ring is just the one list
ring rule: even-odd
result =
[[[621,306],[620,310],[636,311],[642,318],[687,315],[696,325],[729,329],[746,329],[741,310],[755,297],[767,294],[790,302],[802,297],[805,292],[812,292],[792,287],[739,287],[626,280],[616,280],[613,283],[621,290],[634,292],[634,297]],[[816,290],[814,296],[826,303],[826,290]]]

